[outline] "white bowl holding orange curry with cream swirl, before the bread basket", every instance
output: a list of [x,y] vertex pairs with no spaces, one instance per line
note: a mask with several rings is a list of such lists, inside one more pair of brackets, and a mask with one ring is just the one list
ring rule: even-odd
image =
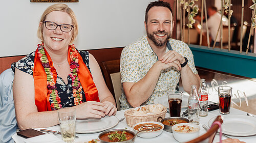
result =
[[[156,130],[156,131],[139,132],[138,136],[140,136],[140,137],[153,138],[153,137],[156,137],[156,136],[160,135],[163,132],[164,125],[162,123],[150,121],[150,122],[140,122],[140,123],[137,123],[137,124],[133,125],[133,130],[134,130],[135,133],[137,133],[139,131],[139,130],[136,130],[135,127],[137,125],[141,125],[141,124],[148,124],[148,125],[153,125],[153,126],[154,126],[154,124],[157,124],[158,126],[161,126],[161,129]],[[154,126],[154,127],[156,127],[156,126]]]

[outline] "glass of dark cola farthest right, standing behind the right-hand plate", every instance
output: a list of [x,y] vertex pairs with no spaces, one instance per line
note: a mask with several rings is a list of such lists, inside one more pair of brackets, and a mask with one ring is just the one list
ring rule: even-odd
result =
[[218,87],[218,95],[219,95],[219,104],[220,104],[220,114],[229,114],[230,112],[230,104],[231,104],[231,96],[232,96],[232,88],[228,86]]

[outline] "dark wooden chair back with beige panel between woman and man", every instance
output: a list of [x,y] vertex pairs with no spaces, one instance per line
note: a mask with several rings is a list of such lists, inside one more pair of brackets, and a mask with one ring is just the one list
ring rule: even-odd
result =
[[116,100],[117,109],[120,110],[119,97],[121,96],[120,60],[103,61],[100,64],[106,86]]

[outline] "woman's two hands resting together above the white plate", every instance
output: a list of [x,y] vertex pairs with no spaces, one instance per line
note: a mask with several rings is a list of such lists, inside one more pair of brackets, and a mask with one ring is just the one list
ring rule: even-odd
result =
[[76,108],[77,119],[101,118],[106,115],[112,116],[116,115],[117,111],[116,106],[110,101],[87,101],[74,107]]

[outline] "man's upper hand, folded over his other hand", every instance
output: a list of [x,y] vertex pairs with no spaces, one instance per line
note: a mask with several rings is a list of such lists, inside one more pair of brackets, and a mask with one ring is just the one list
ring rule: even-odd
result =
[[166,52],[159,61],[165,64],[172,63],[174,61],[178,61],[179,64],[185,63],[184,57],[174,50]]

